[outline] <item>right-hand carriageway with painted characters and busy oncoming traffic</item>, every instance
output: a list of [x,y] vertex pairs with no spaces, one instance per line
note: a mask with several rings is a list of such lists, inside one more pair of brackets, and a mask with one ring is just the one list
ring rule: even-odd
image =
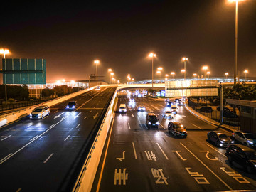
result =
[[[174,120],[164,119],[166,102],[135,98],[126,104],[126,114],[116,113],[105,144],[92,191],[256,191],[256,176],[238,165],[230,166],[225,149],[207,141],[206,134],[218,129],[178,107]],[[146,112],[138,112],[144,105]],[[146,114],[158,115],[159,129],[146,128]],[[169,121],[182,122],[186,139],[167,131]]]

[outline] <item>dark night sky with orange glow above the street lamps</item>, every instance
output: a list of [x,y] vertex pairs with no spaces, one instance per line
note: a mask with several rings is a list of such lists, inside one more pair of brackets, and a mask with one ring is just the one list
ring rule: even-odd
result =
[[[128,73],[150,79],[151,51],[163,74],[182,77],[186,56],[187,77],[203,74],[205,64],[213,76],[233,75],[235,3],[227,0],[6,1],[0,16],[0,47],[12,53],[6,58],[45,58],[47,81],[87,79],[95,59],[99,75],[112,68],[120,80]],[[256,0],[238,8],[242,76],[245,68],[256,76]]]

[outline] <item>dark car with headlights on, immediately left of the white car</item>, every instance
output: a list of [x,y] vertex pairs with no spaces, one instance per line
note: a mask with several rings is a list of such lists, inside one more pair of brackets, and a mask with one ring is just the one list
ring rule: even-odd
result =
[[208,132],[207,133],[208,141],[215,143],[217,146],[220,147],[227,147],[230,144],[233,144],[234,141],[230,139],[226,134],[221,132]]

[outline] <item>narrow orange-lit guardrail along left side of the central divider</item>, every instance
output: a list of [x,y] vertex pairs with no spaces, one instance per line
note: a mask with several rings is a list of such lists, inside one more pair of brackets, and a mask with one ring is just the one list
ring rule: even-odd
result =
[[[100,133],[102,132],[102,127],[105,125],[105,123],[106,123],[106,124],[107,124],[107,123],[108,123],[108,124],[111,124],[111,122],[112,122],[112,118],[110,118],[110,117],[111,117],[112,114],[114,113],[115,103],[117,103],[117,100],[115,100],[115,98],[117,97],[117,90],[118,90],[118,88],[117,88],[117,89],[115,90],[115,92],[114,92],[114,95],[113,95],[113,97],[112,97],[112,100],[111,100],[111,102],[110,102],[109,107],[107,107],[107,111],[106,111],[106,113],[105,113],[105,117],[104,117],[103,120],[102,120],[102,124],[100,124],[100,129],[99,129],[99,131],[97,132],[96,137],[95,137],[95,140],[94,140],[93,143],[92,143],[92,147],[91,147],[91,149],[90,149],[90,151],[89,151],[89,153],[88,153],[88,155],[87,155],[87,158],[85,159],[85,163],[84,163],[83,166],[82,166],[82,169],[81,169],[81,171],[80,171],[80,174],[79,174],[79,176],[78,176],[78,179],[77,179],[77,181],[75,181],[75,186],[74,186],[74,188],[73,188],[73,192],[77,192],[77,191],[79,191],[79,189],[80,189],[80,186],[81,186],[81,183],[82,183],[82,178],[83,178],[83,176],[85,176],[85,173],[86,173],[86,171],[87,171],[87,167],[88,167],[89,164],[90,164],[90,159],[91,159],[91,157],[92,157],[93,152],[95,151],[95,146],[97,145],[98,138],[100,137]],[[112,109],[111,109],[111,108],[112,108]],[[112,110],[112,113],[111,113],[111,114],[109,114],[110,110]],[[110,115],[110,117],[108,117],[108,115]],[[110,118],[110,119],[107,119],[107,118]],[[105,122],[106,120],[108,120],[108,121]]]

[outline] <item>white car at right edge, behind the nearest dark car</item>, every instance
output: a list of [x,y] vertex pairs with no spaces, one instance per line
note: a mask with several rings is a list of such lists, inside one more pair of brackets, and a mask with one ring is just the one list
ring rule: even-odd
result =
[[256,138],[251,133],[233,132],[233,137],[246,146],[256,146]]

